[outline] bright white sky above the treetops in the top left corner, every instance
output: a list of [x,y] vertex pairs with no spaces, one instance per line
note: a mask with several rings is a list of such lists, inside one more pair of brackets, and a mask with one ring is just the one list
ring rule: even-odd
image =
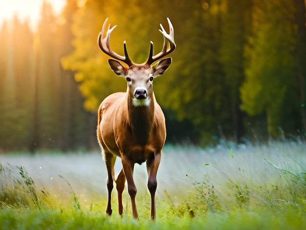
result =
[[58,15],[66,4],[66,0],[1,0],[0,26],[5,20],[11,20],[16,15],[22,22],[27,20],[32,29],[35,29],[44,1],[52,5],[55,15]]

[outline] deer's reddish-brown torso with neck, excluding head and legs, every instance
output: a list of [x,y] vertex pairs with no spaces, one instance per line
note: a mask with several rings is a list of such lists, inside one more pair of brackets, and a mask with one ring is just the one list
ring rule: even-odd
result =
[[99,107],[98,124],[103,150],[133,163],[154,158],[166,139],[165,117],[154,96],[149,106],[135,107],[128,92],[113,93]]

